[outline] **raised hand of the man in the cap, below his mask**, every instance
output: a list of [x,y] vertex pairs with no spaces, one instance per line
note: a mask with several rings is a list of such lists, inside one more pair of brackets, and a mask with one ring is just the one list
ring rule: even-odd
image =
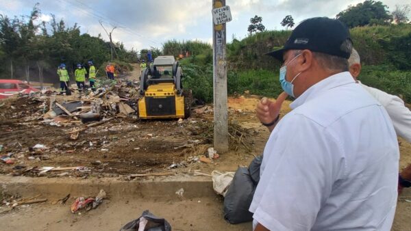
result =
[[[288,94],[286,94],[286,92],[282,92],[282,94],[279,94],[275,102],[266,97],[262,98],[260,102],[258,102],[256,109],[258,120],[264,124],[273,122],[279,115],[279,110],[281,109],[282,103],[284,103],[287,96]],[[269,130],[272,131],[272,129]]]

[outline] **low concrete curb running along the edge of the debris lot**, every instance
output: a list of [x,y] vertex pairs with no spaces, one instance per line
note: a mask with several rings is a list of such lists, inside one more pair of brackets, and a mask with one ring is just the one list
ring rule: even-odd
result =
[[177,198],[175,192],[184,189],[184,198],[213,198],[212,180],[207,176],[166,176],[151,180],[140,178],[125,181],[115,178],[30,178],[25,176],[0,176],[3,191],[24,197],[42,194],[49,200],[71,197],[95,196],[100,189],[110,198],[145,198],[170,200]]

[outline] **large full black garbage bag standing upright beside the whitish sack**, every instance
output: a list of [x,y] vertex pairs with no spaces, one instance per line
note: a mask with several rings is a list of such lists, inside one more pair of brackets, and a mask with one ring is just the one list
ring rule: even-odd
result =
[[238,167],[224,198],[224,218],[229,223],[253,220],[253,213],[249,211],[249,207],[255,190],[256,185],[247,167]]

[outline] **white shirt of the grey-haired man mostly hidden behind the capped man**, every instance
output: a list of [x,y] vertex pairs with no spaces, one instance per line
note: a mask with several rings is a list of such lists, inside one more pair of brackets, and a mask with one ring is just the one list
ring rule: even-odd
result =
[[385,107],[393,121],[395,133],[411,143],[411,111],[404,105],[403,100],[398,96],[364,85],[360,81],[358,83]]

